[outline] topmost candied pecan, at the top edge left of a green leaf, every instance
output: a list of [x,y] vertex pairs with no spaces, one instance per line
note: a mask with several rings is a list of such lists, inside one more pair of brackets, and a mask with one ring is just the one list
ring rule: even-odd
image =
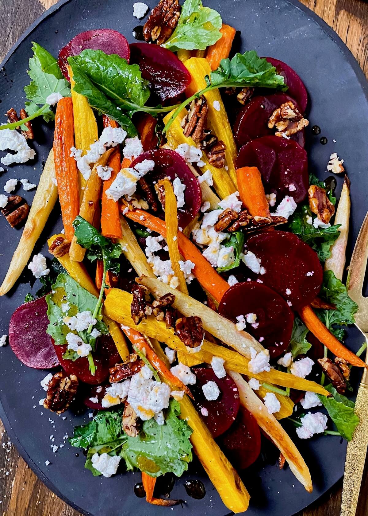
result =
[[155,41],[162,45],[170,38],[180,17],[178,0],[160,0],[148,16],[143,27],[145,41]]

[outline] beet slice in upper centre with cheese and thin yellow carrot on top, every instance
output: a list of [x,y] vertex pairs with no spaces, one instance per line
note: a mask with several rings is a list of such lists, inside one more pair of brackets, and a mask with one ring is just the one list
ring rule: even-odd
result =
[[[180,154],[170,149],[144,152],[133,161],[131,166],[134,167],[144,159],[153,159],[155,162],[155,169],[144,176],[149,185],[154,185],[154,182],[157,183],[160,179],[166,177],[171,181],[178,177],[181,183],[186,185],[184,190],[185,204],[182,208],[178,208],[179,226],[185,228],[197,215],[202,205],[202,191],[194,174]],[[159,202],[158,204],[160,207]]]

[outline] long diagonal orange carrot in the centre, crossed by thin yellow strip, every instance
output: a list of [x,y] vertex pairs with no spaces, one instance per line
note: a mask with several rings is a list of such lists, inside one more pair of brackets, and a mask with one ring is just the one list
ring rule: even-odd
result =
[[[124,208],[124,206],[123,206]],[[163,220],[145,212],[143,209],[133,209],[125,214],[130,220],[156,231],[166,237],[166,224]],[[143,217],[143,218],[141,218]],[[185,260],[191,260],[195,267],[193,274],[207,292],[218,302],[229,288],[228,283],[214,270],[196,246],[181,231],[178,233],[178,247]]]

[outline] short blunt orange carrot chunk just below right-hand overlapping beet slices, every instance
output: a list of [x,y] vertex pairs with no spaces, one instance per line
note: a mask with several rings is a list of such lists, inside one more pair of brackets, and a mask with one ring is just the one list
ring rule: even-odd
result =
[[269,203],[264,194],[261,174],[257,167],[242,167],[237,170],[240,198],[253,217],[270,217]]

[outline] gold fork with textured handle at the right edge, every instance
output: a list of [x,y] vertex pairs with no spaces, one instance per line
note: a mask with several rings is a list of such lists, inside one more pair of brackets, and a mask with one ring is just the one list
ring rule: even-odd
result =
[[[359,305],[355,314],[355,325],[362,332],[365,340],[368,339],[368,298],[362,294],[365,270],[368,260],[368,213],[354,247],[350,261],[347,288],[349,296]],[[365,353],[365,362],[368,364],[368,350]],[[364,369],[357,400],[355,413],[360,424],[354,432],[353,440],[347,445],[344,485],[342,491],[341,516],[355,516],[360,485],[363,476],[365,456],[368,445],[368,370]]]

